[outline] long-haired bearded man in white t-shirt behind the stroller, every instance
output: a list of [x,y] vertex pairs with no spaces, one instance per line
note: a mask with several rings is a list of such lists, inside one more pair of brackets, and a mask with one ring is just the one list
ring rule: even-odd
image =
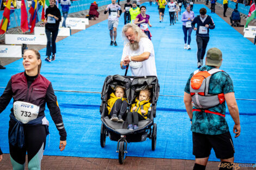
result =
[[122,33],[127,43],[123,49],[121,68],[125,69],[129,64],[132,76],[157,76],[154,46],[148,36],[133,23],[126,24]]

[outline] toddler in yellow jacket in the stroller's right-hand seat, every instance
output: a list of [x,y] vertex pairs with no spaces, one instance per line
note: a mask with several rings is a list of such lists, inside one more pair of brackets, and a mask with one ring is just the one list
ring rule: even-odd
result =
[[[129,130],[138,129],[139,121],[143,121],[148,118],[148,110],[150,108],[151,103],[149,103],[150,99],[150,91],[142,90],[139,92],[139,97],[136,97],[135,102],[132,104],[131,111],[127,114],[127,122]],[[132,119],[133,124],[132,125]]]

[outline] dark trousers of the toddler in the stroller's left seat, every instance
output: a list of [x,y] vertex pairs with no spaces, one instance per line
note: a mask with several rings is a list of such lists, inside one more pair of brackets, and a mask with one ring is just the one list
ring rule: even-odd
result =
[[125,113],[127,110],[127,105],[128,103],[125,100],[122,101],[121,99],[117,99],[117,101],[115,101],[109,113],[109,117],[111,117],[112,115],[117,115],[117,116],[122,116],[124,118],[126,116]]

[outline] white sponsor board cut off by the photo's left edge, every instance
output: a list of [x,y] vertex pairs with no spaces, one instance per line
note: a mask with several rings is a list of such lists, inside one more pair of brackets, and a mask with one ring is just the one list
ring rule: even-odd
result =
[[0,57],[21,58],[21,46],[0,46]]

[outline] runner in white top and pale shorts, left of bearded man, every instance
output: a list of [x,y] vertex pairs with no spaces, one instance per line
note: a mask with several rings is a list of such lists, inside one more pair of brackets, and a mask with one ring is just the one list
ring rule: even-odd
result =
[[[109,35],[110,35],[110,45],[113,46],[113,43],[115,46],[117,46],[117,42],[115,41],[117,39],[117,27],[119,23],[119,17],[122,13],[120,5],[115,3],[116,0],[112,0],[112,3],[107,5],[107,8],[104,11],[104,14],[109,14],[108,16],[108,29],[109,29]],[[119,11],[119,14],[118,14]],[[113,41],[114,37],[114,41]]]

